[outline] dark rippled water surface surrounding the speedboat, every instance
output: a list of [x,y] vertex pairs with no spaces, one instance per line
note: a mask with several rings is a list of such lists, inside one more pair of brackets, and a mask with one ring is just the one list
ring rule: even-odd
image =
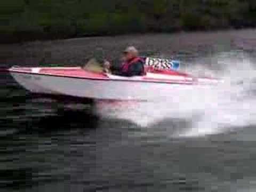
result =
[[[117,58],[131,44],[144,55],[174,55],[184,70],[199,63],[216,75],[256,61],[256,30],[0,45],[0,61],[1,67],[70,66],[95,54]],[[254,70],[245,67],[238,74],[253,77]],[[221,99],[209,109],[189,100],[197,93],[180,100],[186,107],[34,97],[1,74],[0,191],[254,191],[252,79],[245,96],[235,92],[236,102],[223,107]],[[231,89],[245,90],[242,84]],[[204,117],[197,119],[198,106]],[[197,122],[203,123],[194,126]]]

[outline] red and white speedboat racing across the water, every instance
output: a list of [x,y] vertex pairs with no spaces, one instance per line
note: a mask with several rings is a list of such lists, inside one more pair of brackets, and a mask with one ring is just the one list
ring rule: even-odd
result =
[[7,71],[32,93],[100,100],[166,99],[177,90],[191,90],[194,86],[220,82],[217,78],[194,77],[174,69],[156,67],[151,67],[144,76],[134,77],[89,71],[82,67],[14,66]]

